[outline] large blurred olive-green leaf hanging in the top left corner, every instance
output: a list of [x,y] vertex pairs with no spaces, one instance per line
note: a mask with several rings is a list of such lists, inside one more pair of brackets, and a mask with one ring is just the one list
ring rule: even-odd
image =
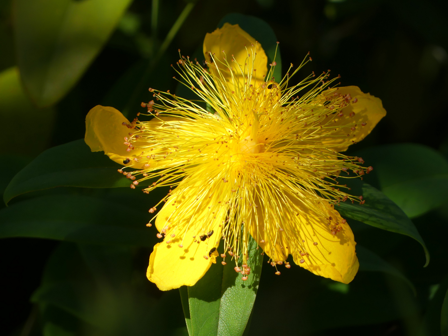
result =
[[39,107],[60,100],[81,78],[130,0],[16,0],[14,32],[22,80]]

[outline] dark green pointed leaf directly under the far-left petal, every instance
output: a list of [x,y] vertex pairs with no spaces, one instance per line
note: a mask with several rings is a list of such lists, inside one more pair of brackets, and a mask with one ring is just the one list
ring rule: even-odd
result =
[[17,173],[6,188],[3,199],[61,186],[84,188],[129,187],[129,180],[103,152],[91,152],[83,139],[44,151]]

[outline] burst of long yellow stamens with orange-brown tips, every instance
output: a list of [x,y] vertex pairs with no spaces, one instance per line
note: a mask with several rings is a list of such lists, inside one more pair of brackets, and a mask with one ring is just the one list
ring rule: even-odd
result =
[[[247,53],[249,60],[254,48],[247,49]],[[198,190],[197,202],[179,205],[182,211],[173,215],[172,224],[157,233],[157,237],[164,238],[167,244],[172,243],[176,223],[181,220],[180,212],[192,211],[198,203],[209,204],[202,222],[194,223],[194,242],[200,244],[210,238],[213,234],[210,223],[219,220],[224,239],[224,252],[220,254],[222,264],[226,264],[227,253],[235,261],[235,271],[246,280],[250,275],[247,264],[250,224],[245,222],[254,225],[258,223],[254,218],[261,214],[263,237],[260,237],[260,230],[254,236],[259,244],[269,246],[271,251],[280,244],[281,249],[309,255],[305,240],[294,238],[300,236],[298,228],[291,224],[280,227],[280,221],[276,220],[285,211],[303,215],[290,202],[289,195],[295,195],[315,216],[325,218],[329,232],[337,235],[344,229],[345,220],[338,222],[328,217],[327,209],[316,206],[316,202],[327,199],[332,204],[364,203],[362,196],[349,194],[347,185],[340,185],[337,177],[345,172],[347,176],[342,174],[341,177],[362,178],[373,168],[362,167],[362,158],[342,155],[327,144],[333,140],[341,144],[354,142],[351,138],[357,129],[366,125],[351,122],[353,112],[349,115],[342,112],[343,108],[357,103],[357,99],[339,94],[332,86],[339,76],[330,79],[330,70],[320,75],[312,73],[290,86],[290,78],[310,58],[306,57],[292,73],[291,64],[284,78],[276,82],[272,77],[275,61],[267,77],[258,78],[256,69],[247,73],[247,64],[239,65],[232,57],[231,65],[225,52],[223,55],[209,53],[205,62],[209,69],[188,56],[181,56],[177,62],[179,82],[197,94],[198,101],[182,99],[169,90],[149,89],[154,100],[142,103],[147,110],[139,115],[153,119],[139,121],[135,118],[130,125],[124,123],[124,127],[130,129],[124,145],[128,151],[138,150],[140,155],[126,158],[125,167],[118,171],[132,180],[133,189],[136,185],[148,185],[143,189],[146,194],[169,186],[168,194],[151,207],[150,213],[155,213],[168,198],[176,199],[170,197],[180,197],[185,190],[204,186],[206,190]],[[254,57],[250,69],[254,68],[253,60]],[[341,135],[342,127],[349,127],[351,132]],[[124,171],[132,160],[142,169]],[[279,199],[284,203],[282,208],[276,205]],[[171,202],[177,207],[176,200]],[[281,246],[281,237],[286,237],[293,246]],[[180,248],[185,239],[179,238]],[[215,250],[213,246],[204,258],[211,258]],[[274,267],[283,264],[291,267],[280,256],[270,257],[268,263]],[[303,258],[299,261],[304,262]],[[280,271],[276,270],[276,274],[280,275]]]

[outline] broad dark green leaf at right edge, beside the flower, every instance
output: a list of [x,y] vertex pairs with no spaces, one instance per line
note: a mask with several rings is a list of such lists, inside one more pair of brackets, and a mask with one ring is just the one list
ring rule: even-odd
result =
[[375,146],[357,155],[373,166],[380,189],[409,218],[448,200],[448,160],[430,147],[402,143]]

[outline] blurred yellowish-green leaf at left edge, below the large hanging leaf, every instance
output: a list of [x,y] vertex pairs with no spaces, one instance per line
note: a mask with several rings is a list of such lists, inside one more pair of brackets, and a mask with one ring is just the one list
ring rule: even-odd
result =
[[[55,110],[36,109],[26,96],[17,67],[0,72],[0,122],[4,125],[0,151],[4,155],[36,155],[43,151],[52,136]],[[20,121],[20,126],[17,122]],[[26,136],[19,134],[26,129]]]

